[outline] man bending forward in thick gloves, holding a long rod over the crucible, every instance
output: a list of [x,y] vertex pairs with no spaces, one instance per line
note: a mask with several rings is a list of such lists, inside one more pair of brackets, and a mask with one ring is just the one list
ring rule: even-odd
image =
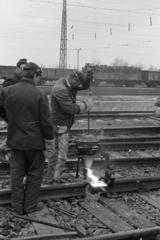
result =
[[79,90],[90,87],[93,70],[85,75],[75,71],[66,78],[60,78],[51,91],[51,114],[55,135],[55,154],[48,159],[48,184],[61,183],[63,168],[67,161],[69,130],[74,123],[74,114],[88,112],[93,104],[87,97],[83,102],[76,101]]

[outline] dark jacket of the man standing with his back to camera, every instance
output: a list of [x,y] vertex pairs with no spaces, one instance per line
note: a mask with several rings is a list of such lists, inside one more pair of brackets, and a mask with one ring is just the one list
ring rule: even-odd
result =
[[44,139],[53,139],[47,95],[34,86],[32,79],[2,89],[0,106],[8,118],[7,144],[14,149],[43,149]]

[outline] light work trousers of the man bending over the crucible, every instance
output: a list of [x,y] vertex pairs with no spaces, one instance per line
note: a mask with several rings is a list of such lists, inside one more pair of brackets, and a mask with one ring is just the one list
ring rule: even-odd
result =
[[48,183],[60,182],[62,171],[67,161],[69,133],[62,132],[63,127],[59,127],[54,135],[55,153],[48,159]]

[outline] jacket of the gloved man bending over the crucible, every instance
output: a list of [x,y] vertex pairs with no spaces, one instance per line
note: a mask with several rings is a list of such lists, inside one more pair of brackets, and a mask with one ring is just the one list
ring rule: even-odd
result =
[[51,111],[54,125],[71,127],[74,121],[74,114],[80,109],[76,99],[67,86],[65,78],[59,79],[51,91]]

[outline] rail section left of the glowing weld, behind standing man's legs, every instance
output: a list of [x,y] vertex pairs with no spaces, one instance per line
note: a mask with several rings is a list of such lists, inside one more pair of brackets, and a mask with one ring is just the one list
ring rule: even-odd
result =
[[[70,183],[59,185],[42,186],[40,190],[40,199],[58,199],[85,196],[88,183]],[[0,190],[0,205],[11,203],[11,190]]]

